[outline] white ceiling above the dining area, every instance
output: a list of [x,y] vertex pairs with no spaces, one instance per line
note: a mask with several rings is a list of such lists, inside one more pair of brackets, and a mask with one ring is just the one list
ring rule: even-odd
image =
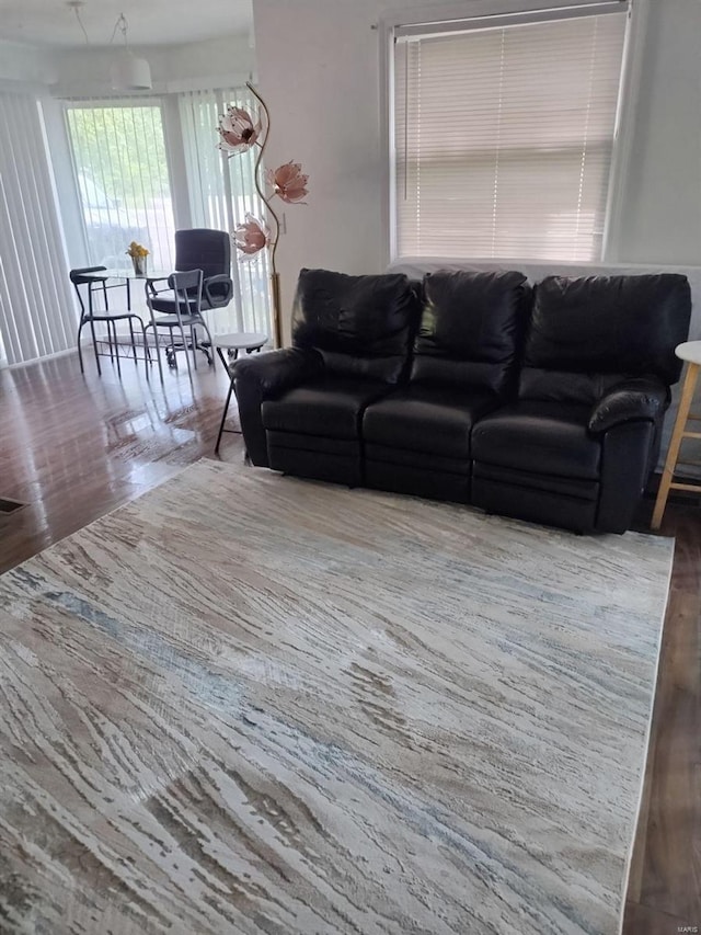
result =
[[[84,0],[79,12],[92,46],[110,45],[122,12],[134,46],[249,34],[253,21],[252,0]],[[66,0],[0,0],[0,39],[62,48],[85,45]]]

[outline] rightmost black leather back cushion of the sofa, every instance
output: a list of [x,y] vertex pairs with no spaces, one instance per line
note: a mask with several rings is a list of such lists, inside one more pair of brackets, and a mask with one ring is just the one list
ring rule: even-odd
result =
[[690,316],[686,276],[549,276],[536,286],[519,396],[593,403],[629,376],[676,383]]

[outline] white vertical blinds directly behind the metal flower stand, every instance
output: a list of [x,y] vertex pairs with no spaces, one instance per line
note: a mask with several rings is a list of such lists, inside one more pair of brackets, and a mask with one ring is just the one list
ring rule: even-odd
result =
[[[232,156],[217,148],[219,116],[233,104],[253,113],[257,104],[248,88],[194,91],[180,94],[180,117],[185,147],[189,206],[195,227],[232,231],[245,215],[265,218],[255,190],[257,148]],[[211,313],[216,333],[269,331],[267,251],[239,262],[232,249],[233,301],[226,311]]]

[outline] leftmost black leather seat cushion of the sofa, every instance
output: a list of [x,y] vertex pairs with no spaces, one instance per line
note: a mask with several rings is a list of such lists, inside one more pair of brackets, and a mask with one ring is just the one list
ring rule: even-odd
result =
[[266,400],[263,425],[268,432],[359,438],[365,408],[390,390],[378,380],[325,377]]

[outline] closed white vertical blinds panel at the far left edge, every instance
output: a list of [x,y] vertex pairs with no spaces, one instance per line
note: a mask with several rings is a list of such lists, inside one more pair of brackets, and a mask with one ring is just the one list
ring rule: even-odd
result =
[[0,333],[8,363],[65,351],[77,316],[39,105],[0,93]]

